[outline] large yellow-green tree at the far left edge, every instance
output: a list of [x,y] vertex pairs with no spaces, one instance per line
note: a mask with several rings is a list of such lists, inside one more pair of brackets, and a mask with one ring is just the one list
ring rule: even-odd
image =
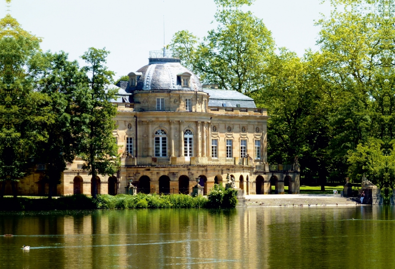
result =
[[15,182],[35,167],[34,152],[47,133],[43,122],[52,122],[51,100],[34,91],[40,61],[40,38],[24,31],[7,14],[0,20],[0,196],[5,181]]

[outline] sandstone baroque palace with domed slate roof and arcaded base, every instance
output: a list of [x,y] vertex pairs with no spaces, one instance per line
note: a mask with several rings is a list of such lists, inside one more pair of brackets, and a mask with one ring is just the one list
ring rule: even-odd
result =
[[[202,85],[170,52],[151,51],[149,64],[128,74],[112,100],[121,167],[116,175],[99,175],[98,194],[137,192],[186,193],[197,184],[206,194],[214,184],[235,179],[246,194],[299,193],[299,164],[269,165],[266,109],[254,100],[218,85]],[[68,164],[57,194],[91,194],[91,177],[83,161]],[[18,195],[44,195],[40,169],[21,179]],[[10,187],[6,188],[10,194]]]

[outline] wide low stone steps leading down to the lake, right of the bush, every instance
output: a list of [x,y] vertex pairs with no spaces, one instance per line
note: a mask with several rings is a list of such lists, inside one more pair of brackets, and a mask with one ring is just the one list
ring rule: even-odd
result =
[[358,205],[352,198],[342,196],[302,196],[281,198],[246,198],[245,206],[325,206],[325,205]]

